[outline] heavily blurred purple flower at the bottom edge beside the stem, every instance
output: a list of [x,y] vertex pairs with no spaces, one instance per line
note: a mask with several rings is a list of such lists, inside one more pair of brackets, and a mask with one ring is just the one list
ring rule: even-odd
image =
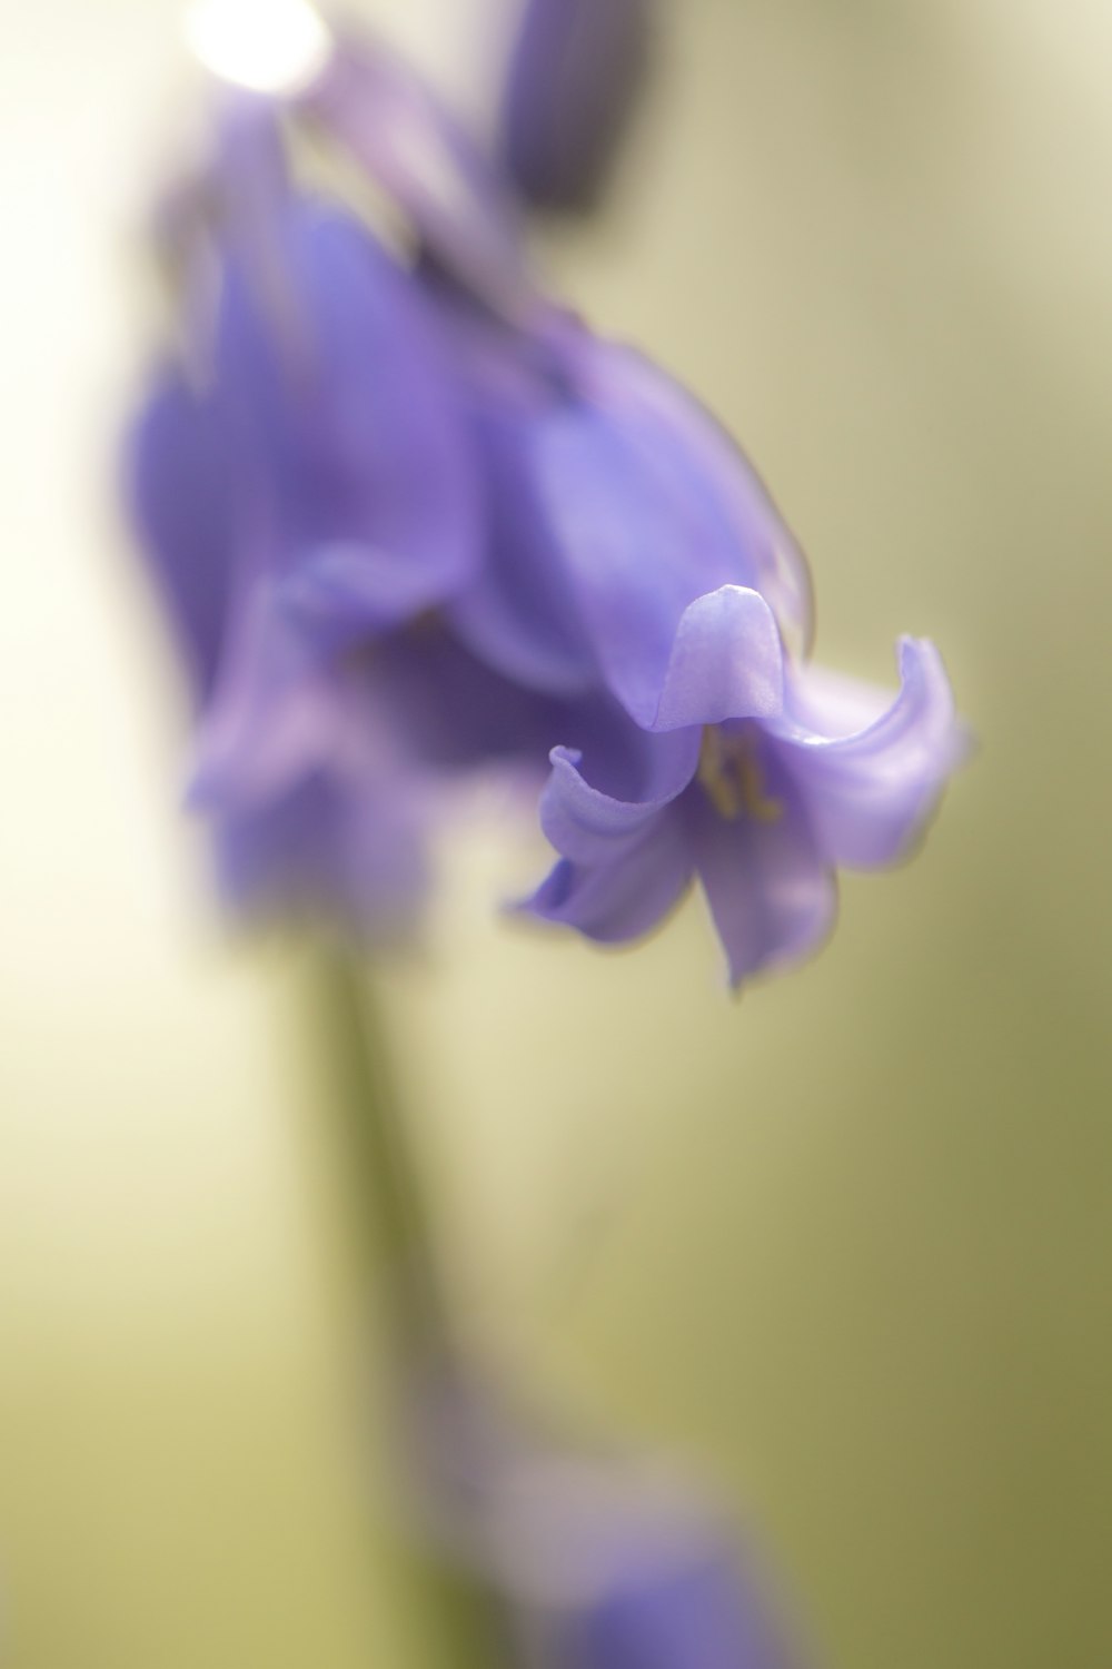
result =
[[507,1604],[533,1669],[799,1669],[762,1569],[685,1479],[523,1422],[490,1385],[407,1380],[427,1534]]

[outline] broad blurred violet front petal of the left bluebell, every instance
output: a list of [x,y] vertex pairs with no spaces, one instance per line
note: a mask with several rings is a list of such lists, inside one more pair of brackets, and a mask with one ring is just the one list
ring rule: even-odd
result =
[[228,260],[217,374],[242,467],[273,506],[272,566],[337,648],[467,581],[477,502],[420,292],[342,214],[293,204],[282,240],[282,305]]

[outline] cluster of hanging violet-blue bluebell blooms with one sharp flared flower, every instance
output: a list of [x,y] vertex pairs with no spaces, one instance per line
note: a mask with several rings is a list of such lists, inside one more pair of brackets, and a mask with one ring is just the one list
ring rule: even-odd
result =
[[[735,985],[809,951],[960,756],[935,649],[900,644],[895,698],[810,664],[742,452],[543,295],[510,174],[403,65],[340,42],[213,130],[160,209],[178,350],[128,482],[228,895],[403,930],[443,784],[497,764],[548,773],[525,913],[622,943],[697,880]],[[388,234],[297,182],[307,132]]]

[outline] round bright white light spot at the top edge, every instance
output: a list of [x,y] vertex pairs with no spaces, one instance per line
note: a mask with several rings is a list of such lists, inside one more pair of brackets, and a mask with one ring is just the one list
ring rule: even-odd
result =
[[183,28],[205,68],[257,93],[308,87],[332,52],[305,0],[195,0]]

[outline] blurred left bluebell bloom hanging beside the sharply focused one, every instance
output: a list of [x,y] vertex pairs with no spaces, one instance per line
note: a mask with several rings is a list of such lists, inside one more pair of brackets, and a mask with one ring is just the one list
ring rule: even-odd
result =
[[423,893],[433,779],[543,759],[550,719],[427,626],[480,526],[422,289],[292,189],[267,105],[225,113],[202,185],[173,205],[187,352],[127,444],[198,709],[190,798],[237,906],[383,936]]

